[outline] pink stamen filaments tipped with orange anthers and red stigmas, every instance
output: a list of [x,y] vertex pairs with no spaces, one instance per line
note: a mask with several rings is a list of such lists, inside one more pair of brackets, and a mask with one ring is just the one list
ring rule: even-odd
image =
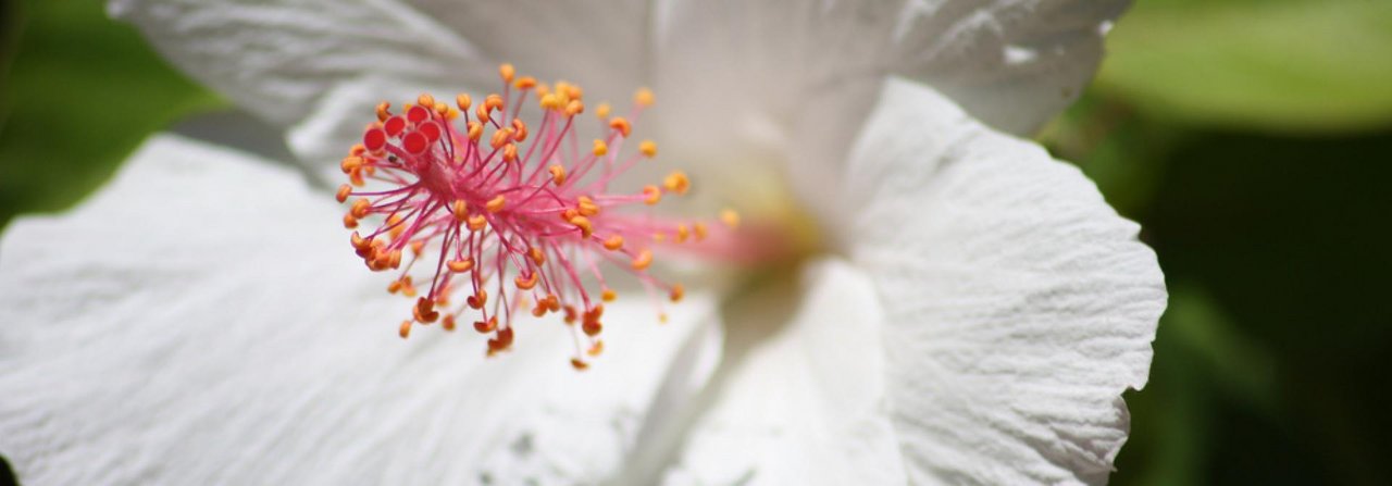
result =
[[[624,150],[653,104],[650,91],[638,91],[625,117],[600,104],[597,138],[585,143],[580,86],[518,77],[509,64],[498,74],[503,92],[477,102],[420,95],[398,111],[377,104],[377,120],[342,159],[344,227],[356,230],[352,248],[369,269],[395,274],[387,291],[413,301],[401,337],[415,326],[454,330],[472,320],[494,355],[512,347],[519,312],[558,313],[574,336],[571,363],[586,369],[604,350],[603,302],[617,297],[603,269],[633,274],[665,316],[658,297],[675,302],[683,288],[649,274],[650,245],[699,241],[706,226],[646,210],[689,191],[681,171],[610,192],[615,177],[657,156],[653,141]],[[539,104],[539,121],[522,120],[526,103]],[[361,230],[366,221],[376,227]]]

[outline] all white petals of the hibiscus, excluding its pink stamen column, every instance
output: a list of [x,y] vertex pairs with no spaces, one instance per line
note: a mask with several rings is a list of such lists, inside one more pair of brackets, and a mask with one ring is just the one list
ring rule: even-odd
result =
[[315,171],[379,99],[501,61],[651,85],[664,160],[754,216],[795,201],[821,251],[800,283],[692,285],[665,326],[614,302],[583,373],[541,326],[483,359],[393,337],[331,191],[159,135],[4,235],[0,453],[26,485],[1102,483],[1162,277],[1009,134],[1070,100],[1123,4],[116,1]]

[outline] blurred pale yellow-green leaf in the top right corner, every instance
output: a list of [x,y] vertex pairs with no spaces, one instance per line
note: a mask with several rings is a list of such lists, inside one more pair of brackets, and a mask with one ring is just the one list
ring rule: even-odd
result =
[[1392,124],[1392,1],[1139,1],[1097,86],[1147,114],[1332,132]]

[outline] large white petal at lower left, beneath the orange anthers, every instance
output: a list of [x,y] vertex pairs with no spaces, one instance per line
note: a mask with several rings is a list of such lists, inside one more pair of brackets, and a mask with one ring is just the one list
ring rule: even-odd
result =
[[71,214],[0,248],[0,454],[25,485],[597,482],[615,471],[710,301],[660,326],[606,313],[568,365],[554,320],[482,356],[472,331],[394,323],[331,199],[174,136]]

